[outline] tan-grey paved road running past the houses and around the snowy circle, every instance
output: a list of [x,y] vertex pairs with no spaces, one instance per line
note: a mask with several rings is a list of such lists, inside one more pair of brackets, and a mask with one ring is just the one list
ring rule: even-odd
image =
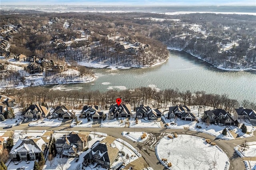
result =
[[[163,125],[163,124],[161,124]],[[93,127],[93,128],[70,128],[68,123],[63,123],[60,127],[28,127],[27,123],[24,123],[19,126],[15,126],[8,129],[3,129],[0,127],[0,130],[77,130],[77,131],[94,131],[97,132],[103,132],[110,136],[113,136],[115,138],[122,138],[126,142],[130,143],[134,148],[136,148],[143,158],[148,162],[149,166],[152,167],[154,170],[163,170],[166,169],[158,159],[156,158],[155,150],[154,148],[148,148],[148,146],[145,146],[144,143],[140,142],[133,142],[124,136],[122,136],[122,132],[147,132],[147,133],[154,133],[159,134],[162,132],[177,132],[178,134],[192,134],[192,135],[198,135],[202,138],[209,138],[211,141],[214,141],[226,154],[228,155],[230,159],[230,170],[244,170],[244,162],[242,159],[236,154],[234,151],[234,146],[242,144],[244,142],[244,139],[236,138],[235,140],[220,140],[218,138],[215,138],[214,136],[211,136],[206,133],[202,132],[196,132],[193,130],[183,130],[183,129],[166,129],[166,128],[100,128],[100,127]],[[246,138],[247,142],[256,141],[256,131],[254,131],[254,136],[250,138]],[[145,150],[146,148],[146,150]]]

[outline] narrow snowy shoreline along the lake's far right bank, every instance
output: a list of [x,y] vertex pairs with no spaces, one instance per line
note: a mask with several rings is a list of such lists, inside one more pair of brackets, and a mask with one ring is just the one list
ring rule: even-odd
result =
[[167,49],[169,50],[174,50],[174,51],[184,51],[186,53],[189,53],[190,55],[192,55],[193,57],[196,57],[198,59],[201,59],[203,61],[206,61],[207,63],[211,64],[212,66],[214,66],[215,68],[217,69],[221,69],[221,70],[224,70],[224,71],[250,71],[250,70],[253,70],[253,71],[256,71],[256,69],[252,68],[252,67],[248,67],[248,68],[241,68],[241,69],[226,69],[224,67],[219,67],[217,65],[214,65],[213,63],[210,63],[210,61],[207,61],[206,59],[202,59],[200,56],[196,56],[194,55],[193,53],[190,53],[188,51],[185,51],[181,48],[176,48],[176,47],[167,47]]

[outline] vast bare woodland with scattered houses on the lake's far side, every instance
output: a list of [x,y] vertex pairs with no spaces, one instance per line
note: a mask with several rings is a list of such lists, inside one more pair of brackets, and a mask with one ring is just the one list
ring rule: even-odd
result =
[[[13,35],[10,51],[14,54],[144,66],[164,61],[168,57],[167,45],[181,48],[224,68],[256,66],[256,16],[31,13],[5,14],[1,11],[1,26],[22,24],[23,27],[20,33]],[[65,23],[68,23],[67,27]],[[81,32],[86,34],[87,39],[74,41],[81,38]],[[234,45],[223,50],[221,44],[224,40]],[[68,41],[72,42],[60,45]],[[149,48],[129,53],[120,47],[120,41],[148,44]]]

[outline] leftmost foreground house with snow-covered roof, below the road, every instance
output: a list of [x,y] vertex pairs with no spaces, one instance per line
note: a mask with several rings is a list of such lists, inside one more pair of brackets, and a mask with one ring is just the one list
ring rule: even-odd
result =
[[17,155],[21,160],[27,160],[29,154],[30,160],[36,160],[41,152],[46,152],[47,144],[42,138],[19,139],[9,152],[11,160],[17,160]]

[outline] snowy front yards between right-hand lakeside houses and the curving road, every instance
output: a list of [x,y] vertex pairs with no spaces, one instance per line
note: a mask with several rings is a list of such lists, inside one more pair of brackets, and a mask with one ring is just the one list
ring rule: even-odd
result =
[[[232,136],[232,134],[230,134],[229,131],[228,131],[228,134],[226,136],[223,136],[222,135],[222,130],[225,127],[222,127],[222,126],[219,126],[219,125],[213,125],[212,124],[212,125],[206,126],[205,123],[196,123],[195,121],[183,121],[183,120],[180,120],[180,119],[177,119],[177,121],[175,123],[174,119],[165,119],[164,117],[162,117],[162,119],[165,121],[167,128],[172,128],[172,129],[186,129],[186,128],[189,128],[190,130],[195,130],[195,131],[198,131],[198,132],[204,132],[204,133],[210,134],[212,136],[216,136],[217,138],[224,139],[224,140],[234,139],[234,137]],[[200,126],[201,128],[196,128],[196,126]]]

